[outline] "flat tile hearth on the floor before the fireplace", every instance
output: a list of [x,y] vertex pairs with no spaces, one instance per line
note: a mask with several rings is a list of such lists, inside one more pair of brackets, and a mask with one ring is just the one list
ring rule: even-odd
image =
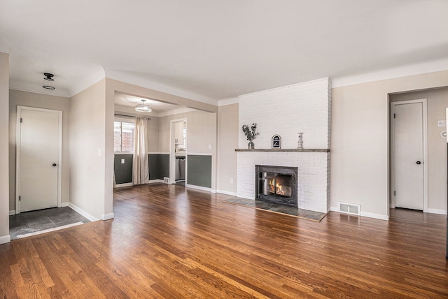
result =
[[313,221],[321,221],[326,215],[325,213],[297,209],[297,207],[290,207],[288,205],[278,205],[276,203],[267,203],[265,201],[251,200],[239,197],[226,199],[224,200],[224,203],[232,203],[234,205],[242,205],[244,207],[253,207],[255,209],[287,214],[290,216],[309,219]]

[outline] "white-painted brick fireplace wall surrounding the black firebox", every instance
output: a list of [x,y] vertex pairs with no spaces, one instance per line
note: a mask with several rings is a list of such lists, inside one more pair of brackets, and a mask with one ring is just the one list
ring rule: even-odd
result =
[[[255,200],[255,165],[297,167],[298,207],[317,212],[330,209],[331,82],[323,78],[239,96],[239,148],[247,149],[243,124],[257,124],[255,151],[237,152],[237,196]],[[303,133],[303,152],[297,133]],[[281,152],[271,138],[281,136]]]

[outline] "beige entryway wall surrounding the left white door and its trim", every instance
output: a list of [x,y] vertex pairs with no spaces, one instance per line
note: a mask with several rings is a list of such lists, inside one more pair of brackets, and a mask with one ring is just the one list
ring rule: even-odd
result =
[[9,210],[15,210],[15,145],[17,106],[62,111],[62,198],[69,203],[69,98],[10,89],[9,94]]

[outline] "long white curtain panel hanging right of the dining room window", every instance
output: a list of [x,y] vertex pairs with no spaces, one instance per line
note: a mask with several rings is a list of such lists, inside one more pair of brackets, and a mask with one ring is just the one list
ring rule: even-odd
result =
[[146,184],[148,181],[148,122],[146,118],[135,117],[132,183]]

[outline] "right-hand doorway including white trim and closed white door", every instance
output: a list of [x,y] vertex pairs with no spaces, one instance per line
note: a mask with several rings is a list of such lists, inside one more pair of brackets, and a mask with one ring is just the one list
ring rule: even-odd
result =
[[391,207],[428,212],[426,99],[391,102]]

